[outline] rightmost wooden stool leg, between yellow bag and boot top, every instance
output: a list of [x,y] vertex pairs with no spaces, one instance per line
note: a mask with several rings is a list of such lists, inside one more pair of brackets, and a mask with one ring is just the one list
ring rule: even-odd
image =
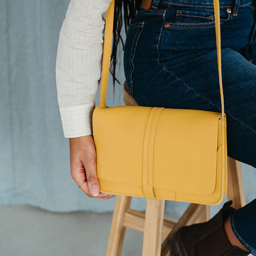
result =
[[233,200],[235,209],[246,205],[241,162],[230,157],[228,157],[228,199]]

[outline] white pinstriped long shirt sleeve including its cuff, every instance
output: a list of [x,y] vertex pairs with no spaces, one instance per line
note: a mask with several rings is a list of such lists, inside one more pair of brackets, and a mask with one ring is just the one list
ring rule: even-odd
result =
[[111,0],[71,0],[60,29],[57,99],[65,138],[92,134],[100,83],[105,18]]

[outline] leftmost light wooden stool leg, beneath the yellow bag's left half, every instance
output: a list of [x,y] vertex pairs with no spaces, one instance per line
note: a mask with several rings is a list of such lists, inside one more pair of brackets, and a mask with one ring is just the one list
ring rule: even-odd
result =
[[106,256],[120,256],[122,252],[122,244],[124,241],[124,233],[126,227],[124,224],[124,215],[130,207],[131,196],[116,196],[116,204],[112,217],[110,237],[108,238],[108,247]]

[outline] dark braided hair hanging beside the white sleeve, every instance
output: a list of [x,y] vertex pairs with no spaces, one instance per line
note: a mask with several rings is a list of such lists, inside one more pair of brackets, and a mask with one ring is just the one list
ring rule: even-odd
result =
[[[121,30],[124,20],[124,30],[127,35],[128,26],[130,22],[135,17],[137,10],[142,4],[142,0],[115,0],[114,1],[114,23],[113,23],[113,45],[111,52],[111,62],[110,62],[110,73],[113,76],[113,86],[114,82],[117,81],[116,78],[116,55],[118,50],[119,41],[122,44],[122,51],[124,51],[125,39],[121,37]],[[124,17],[122,17],[122,14]]]

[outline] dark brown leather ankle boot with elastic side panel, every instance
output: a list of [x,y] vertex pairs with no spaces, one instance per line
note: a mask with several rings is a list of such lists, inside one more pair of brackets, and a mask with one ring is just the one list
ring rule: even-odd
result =
[[247,256],[249,252],[233,246],[226,236],[223,224],[233,212],[225,202],[222,209],[208,222],[180,228],[169,241],[173,256]]

